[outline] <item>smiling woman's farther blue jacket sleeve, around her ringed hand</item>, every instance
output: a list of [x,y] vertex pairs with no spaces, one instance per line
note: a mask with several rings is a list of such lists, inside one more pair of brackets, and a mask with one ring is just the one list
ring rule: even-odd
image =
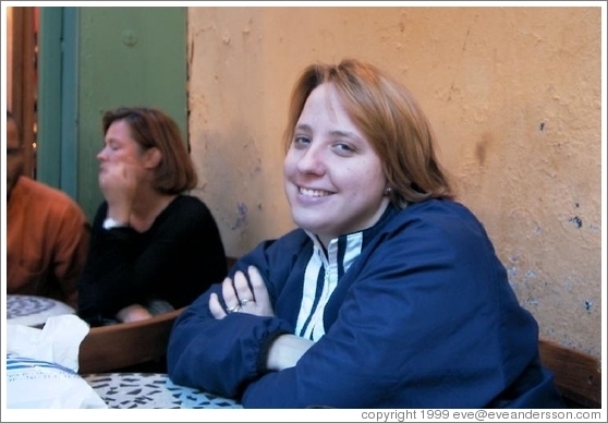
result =
[[[241,257],[229,278],[239,270],[245,271],[248,266],[255,266],[266,281],[284,280],[289,258],[282,255],[281,263],[287,264],[285,269],[276,266],[270,276],[266,252],[266,243],[263,243]],[[281,247],[275,249],[275,252],[280,255]],[[167,350],[168,373],[177,384],[236,398],[246,384],[268,372],[268,348],[278,336],[293,334],[293,326],[285,319],[269,315],[271,310],[264,306],[259,309],[264,316],[244,312],[227,314],[222,287],[223,283],[212,286],[175,322]],[[267,292],[273,304],[277,287],[268,285]],[[212,302],[215,305],[210,306],[211,297],[221,299],[221,303]],[[251,307],[248,303],[246,309]]]

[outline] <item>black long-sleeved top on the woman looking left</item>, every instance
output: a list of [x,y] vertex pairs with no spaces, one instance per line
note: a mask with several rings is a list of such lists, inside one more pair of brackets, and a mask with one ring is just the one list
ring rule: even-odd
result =
[[104,229],[108,204],[93,222],[90,247],[78,282],[78,316],[92,326],[130,304],[165,300],[192,303],[227,275],[218,226],[199,198],[177,196],[145,232]]

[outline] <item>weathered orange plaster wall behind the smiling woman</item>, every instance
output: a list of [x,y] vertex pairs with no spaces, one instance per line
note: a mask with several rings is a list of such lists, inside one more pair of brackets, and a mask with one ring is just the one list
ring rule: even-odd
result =
[[291,229],[280,137],[295,76],[368,60],[426,109],[540,335],[600,355],[600,35],[599,7],[190,8],[195,194],[230,255]]

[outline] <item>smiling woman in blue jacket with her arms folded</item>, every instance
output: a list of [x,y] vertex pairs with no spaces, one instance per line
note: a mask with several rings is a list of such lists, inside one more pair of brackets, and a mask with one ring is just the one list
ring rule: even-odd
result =
[[357,60],[312,64],[285,134],[299,228],[259,243],[178,317],[174,383],[245,408],[564,406],[534,317],[453,200],[404,86]]

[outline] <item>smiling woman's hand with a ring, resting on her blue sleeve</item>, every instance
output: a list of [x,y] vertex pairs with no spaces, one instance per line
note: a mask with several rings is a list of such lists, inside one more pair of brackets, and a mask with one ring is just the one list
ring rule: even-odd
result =
[[273,316],[275,311],[270,304],[268,290],[262,275],[256,267],[247,269],[250,280],[239,270],[234,274],[234,281],[226,278],[222,282],[221,293],[223,303],[216,293],[209,298],[209,311],[215,318],[224,318],[230,313],[248,313],[256,316]]

